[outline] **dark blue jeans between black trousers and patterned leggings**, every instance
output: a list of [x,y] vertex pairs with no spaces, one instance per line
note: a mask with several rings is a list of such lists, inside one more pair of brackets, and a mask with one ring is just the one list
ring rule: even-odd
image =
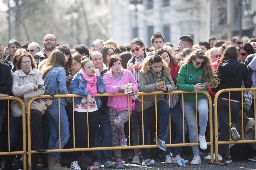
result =
[[[94,147],[112,146],[112,130],[108,115],[100,115],[100,129],[96,129]],[[93,151],[92,159],[94,162],[103,163],[112,161],[112,150]]]

